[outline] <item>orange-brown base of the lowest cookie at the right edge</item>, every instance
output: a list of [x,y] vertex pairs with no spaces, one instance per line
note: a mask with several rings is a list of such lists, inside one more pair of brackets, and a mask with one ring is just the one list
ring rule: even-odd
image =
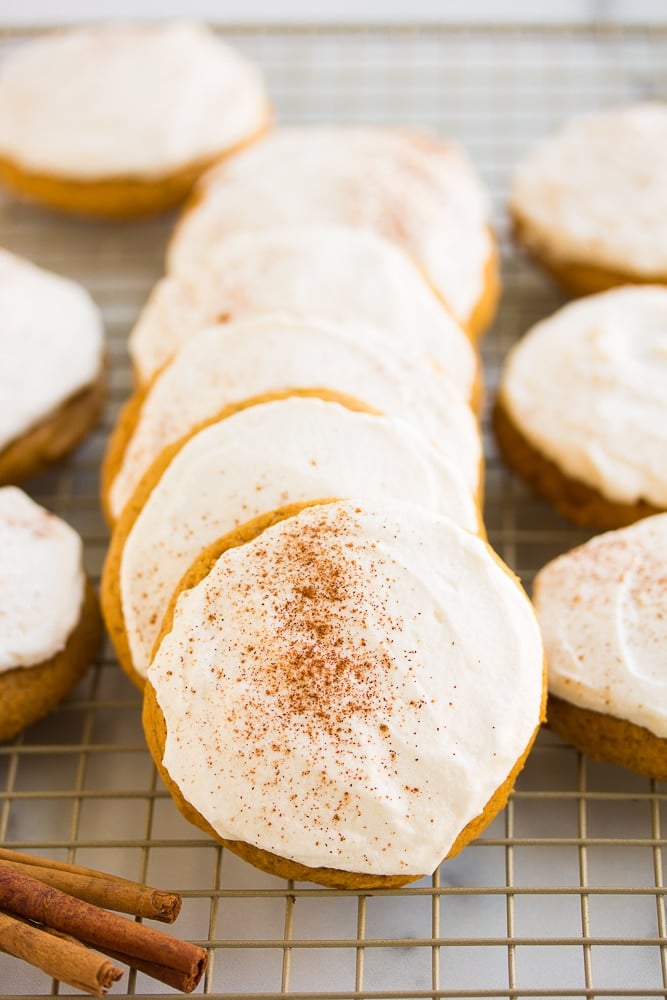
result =
[[667,781],[667,740],[627,719],[604,715],[549,695],[547,724],[593,760],[619,764]]

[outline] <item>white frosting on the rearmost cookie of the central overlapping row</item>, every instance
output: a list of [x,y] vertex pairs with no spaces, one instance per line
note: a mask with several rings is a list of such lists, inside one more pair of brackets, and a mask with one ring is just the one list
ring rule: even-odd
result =
[[428,133],[285,129],[210,171],[197,195],[171,243],[174,273],[240,229],[333,223],[407,250],[464,324],[484,292],[484,194],[466,154]]

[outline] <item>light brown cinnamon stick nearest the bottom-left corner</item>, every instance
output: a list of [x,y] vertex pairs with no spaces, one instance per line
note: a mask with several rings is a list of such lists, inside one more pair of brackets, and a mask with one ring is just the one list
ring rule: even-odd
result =
[[53,937],[8,913],[0,913],[0,950],[95,997],[104,996],[123,975],[122,969],[85,945]]

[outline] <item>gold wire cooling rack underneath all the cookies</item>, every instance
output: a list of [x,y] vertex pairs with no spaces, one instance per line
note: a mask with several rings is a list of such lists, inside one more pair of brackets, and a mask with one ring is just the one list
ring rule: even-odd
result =
[[[283,122],[408,122],[469,148],[491,191],[503,250],[504,297],[484,346],[491,396],[509,345],[561,301],[506,239],[509,171],[574,114],[666,98],[667,32],[227,34],[261,63]],[[0,55],[21,40],[0,37]],[[130,387],[127,333],[161,273],[171,223],[97,225],[0,204],[0,243],[83,282],[104,312],[111,357],[104,424],[57,471],[28,484],[81,532],[96,582],[107,545],[100,458]],[[488,422],[485,445],[490,539],[530,587],[548,559],[585,535],[505,472]],[[507,809],[478,841],[432,879],[357,895],[264,875],[186,824],[156,777],[140,714],[139,695],[107,645],[73,697],[0,747],[0,838],[179,889],[185,902],[175,930],[210,949],[199,993],[254,1000],[667,996],[661,785],[594,764],[542,733]],[[173,995],[141,974],[123,984],[115,996]],[[0,991],[3,1000],[76,992],[6,956]]]

